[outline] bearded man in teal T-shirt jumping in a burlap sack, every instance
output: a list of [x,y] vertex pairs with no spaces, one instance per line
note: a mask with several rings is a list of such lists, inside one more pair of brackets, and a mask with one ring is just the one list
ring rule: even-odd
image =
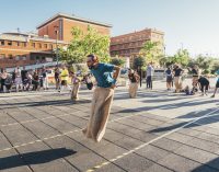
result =
[[[105,134],[115,82],[120,68],[108,64],[101,64],[94,55],[88,56],[87,65],[95,77],[97,87],[93,93],[88,126],[82,131],[88,138],[99,142]],[[113,74],[114,70],[115,73]]]

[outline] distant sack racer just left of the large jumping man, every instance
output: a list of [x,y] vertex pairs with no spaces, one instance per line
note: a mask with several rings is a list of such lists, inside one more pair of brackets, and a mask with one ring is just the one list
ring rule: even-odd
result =
[[72,101],[77,101],[79,100],[79,89],[80,89],[80,85],[81,85],[81,80],[76,76],[76,73],[71,73],[72,76],[72,90],[71,90],[71,100]]

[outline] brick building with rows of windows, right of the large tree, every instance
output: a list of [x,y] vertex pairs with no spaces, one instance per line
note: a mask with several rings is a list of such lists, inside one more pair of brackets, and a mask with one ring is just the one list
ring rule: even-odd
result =
[[130,60],[139,55],[146,41],[160,42],[159,49],[164,50],[164,33],[158,30],[146,28],[111,38],[111,56],[129,57]]

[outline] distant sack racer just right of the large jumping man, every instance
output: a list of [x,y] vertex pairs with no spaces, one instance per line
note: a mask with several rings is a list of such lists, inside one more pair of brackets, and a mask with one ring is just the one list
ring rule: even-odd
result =
[[129,69],[128,79],[130,81],[130,84],[129,84],[129,96],[130,98],[136,98],[137,91],[138,91],[138,82],[139,82],[140,77],[132,69]]

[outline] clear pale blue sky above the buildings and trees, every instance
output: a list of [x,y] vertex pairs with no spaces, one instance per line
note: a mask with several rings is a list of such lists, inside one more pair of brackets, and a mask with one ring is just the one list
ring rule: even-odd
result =
[[161,30],[168,55],[219,56],[219,0],[0,0],[0,33],[35,31],[58,12],[112,24],[112,36]]

